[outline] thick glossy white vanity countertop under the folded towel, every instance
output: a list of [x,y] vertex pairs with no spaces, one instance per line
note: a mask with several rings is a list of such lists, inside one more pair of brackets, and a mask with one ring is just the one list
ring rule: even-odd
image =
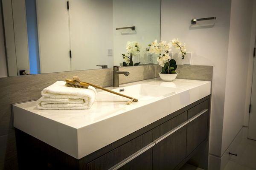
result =
[[131,105],[126,105],[129,99],[97,90],[96,101],[88,110],[38,110],[35,101],[20,103],[13,108],[14,126],[81,159],[208,96],[211,88],[211,82],[207,81],[175,79],[163,82],[160,78],[128,83],[119,88],[139,84],[176,89],[154,98],[141,97]]

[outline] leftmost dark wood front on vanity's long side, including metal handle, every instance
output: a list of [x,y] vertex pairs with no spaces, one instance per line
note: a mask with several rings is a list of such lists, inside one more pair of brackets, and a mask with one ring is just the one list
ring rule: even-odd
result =
[[89,162],[87,170],[135,169],[150,170],[152,165],[151,147],[154,145],[152,133],[148,131],[141,136],[123,144],[103,156]]

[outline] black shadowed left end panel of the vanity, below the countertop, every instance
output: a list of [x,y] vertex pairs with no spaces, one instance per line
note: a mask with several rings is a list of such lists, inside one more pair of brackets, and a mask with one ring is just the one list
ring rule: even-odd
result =
[[15,129],[19,170],[79,170],[79,160]]

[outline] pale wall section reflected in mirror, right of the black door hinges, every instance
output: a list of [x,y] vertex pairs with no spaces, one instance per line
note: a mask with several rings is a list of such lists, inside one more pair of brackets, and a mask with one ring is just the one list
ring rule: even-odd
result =
[[71,70],[113,67],[112,0],[69,0]]

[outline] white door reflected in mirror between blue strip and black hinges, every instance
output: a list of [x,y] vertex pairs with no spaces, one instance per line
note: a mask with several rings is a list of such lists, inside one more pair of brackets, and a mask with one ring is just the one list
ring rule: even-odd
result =
[[41,73],[70,71],[67,0],[36,0]]

